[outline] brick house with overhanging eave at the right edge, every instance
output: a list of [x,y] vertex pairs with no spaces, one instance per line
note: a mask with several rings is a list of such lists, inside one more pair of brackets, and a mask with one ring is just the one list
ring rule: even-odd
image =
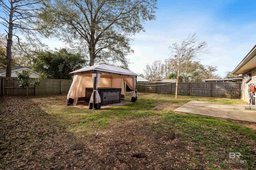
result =
[[236,66],[232,74],[243,75],[242,100],[249,102],[248,85],[256,84],[256,45]]

